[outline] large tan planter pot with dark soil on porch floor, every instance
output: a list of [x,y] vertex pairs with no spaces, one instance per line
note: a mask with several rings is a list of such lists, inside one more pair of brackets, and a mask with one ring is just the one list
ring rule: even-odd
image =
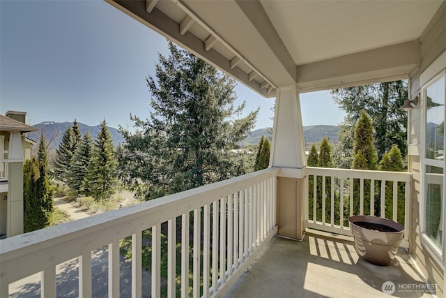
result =
[[[385,218],[367,215],[351,216],[348,218],[348,224],[361,258],[380,266],[387,266],[392,262],[403,240],[403,225]],[[370,227],[374,225],[385,228],[384,230],[392,230],[392,232],[371,230]]]

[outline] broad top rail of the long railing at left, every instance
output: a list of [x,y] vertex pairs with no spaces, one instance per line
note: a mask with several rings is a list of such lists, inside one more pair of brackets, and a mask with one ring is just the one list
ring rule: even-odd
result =
[[[279,168],[270,167],[156,200],[3,239],[0,242],[0,276],[3,279],[17,260],[29,262],[29,267],[33,267],[34,271],[70,260],[84,252],[109,244],[110,239],[128,237],[218,198],[224,198],[226,195],[275,177],[277,172]],[[60,250],[64,252],[63,256],[50,253]],[[38,258],[40,255],[45,257]],[[30,268],[30,271],[33,269]],[[15,274],[20,275],[20,273]],[[17,276],[5,279],[17,280],[15,278]]]

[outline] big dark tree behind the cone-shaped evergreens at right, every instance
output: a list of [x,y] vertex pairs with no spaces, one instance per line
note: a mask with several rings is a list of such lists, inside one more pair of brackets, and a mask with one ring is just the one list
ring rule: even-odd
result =
[[399,108],[408,98],[406,81],[334,89],[331,93],[334,101],[346,112],[339,132],[339,142],[343,144],[342,151],[346,156],[353,149],[353,131],[362,110],[367,111],[373,122],[378,157],[389,151],[392,144],[397,144],[401,154],[406,156],[407,113]]

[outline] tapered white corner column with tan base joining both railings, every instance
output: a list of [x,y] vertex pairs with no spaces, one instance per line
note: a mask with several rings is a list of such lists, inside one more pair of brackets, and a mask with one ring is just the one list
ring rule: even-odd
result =
[[270,166],[277,177],[277,233],[302,239],[305,230],[305,144],[295,85],[277,89]]

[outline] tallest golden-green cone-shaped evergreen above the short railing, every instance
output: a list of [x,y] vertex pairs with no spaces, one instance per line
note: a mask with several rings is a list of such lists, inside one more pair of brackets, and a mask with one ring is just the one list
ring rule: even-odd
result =
[[374,147],[373,126],[364,110],[355,126],[353,142],[353,169],[376,170],[378,157]]

